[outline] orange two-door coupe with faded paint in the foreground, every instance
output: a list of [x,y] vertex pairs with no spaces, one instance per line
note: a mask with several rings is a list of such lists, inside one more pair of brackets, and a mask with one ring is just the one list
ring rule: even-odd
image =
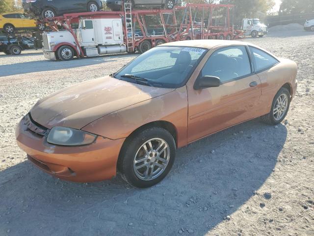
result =
[[16,128],[28,159],[55,177],[90,182],[117,171],[149,187],[176,149],[243,121],[287,115],[297,65],[246,42],[165,43],[118,72],[41,99]]

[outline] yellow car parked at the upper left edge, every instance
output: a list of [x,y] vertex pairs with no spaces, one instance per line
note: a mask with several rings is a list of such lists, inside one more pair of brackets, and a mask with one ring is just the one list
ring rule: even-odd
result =
[[35,20],[28,19],[21,12],[10,12],[0,14],[0,30],[5,30],[8,33],[13,33],[19,29],[39,29],[44,30],[44,24],[36,24]]

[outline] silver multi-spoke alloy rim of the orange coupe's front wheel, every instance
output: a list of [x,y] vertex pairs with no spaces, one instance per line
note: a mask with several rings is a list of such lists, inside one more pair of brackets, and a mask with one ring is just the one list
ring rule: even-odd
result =
[[142,180],[153,180],[167,168],[170,159],[170,148],[166,141],[153,138],[138,148],[133,170],[136,177]]

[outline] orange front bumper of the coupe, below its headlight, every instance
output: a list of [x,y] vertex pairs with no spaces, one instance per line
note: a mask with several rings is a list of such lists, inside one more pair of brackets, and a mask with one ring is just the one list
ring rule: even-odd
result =
[[36,133],[40,128],[32,125],[21,120],[15,131],[17,144],[27,153],[28,160],[44,172],[76,182],[100,181],[116,175],[118,155],[125,139],[99,136],[90,145],[58,146],[47,143],[47,135]]

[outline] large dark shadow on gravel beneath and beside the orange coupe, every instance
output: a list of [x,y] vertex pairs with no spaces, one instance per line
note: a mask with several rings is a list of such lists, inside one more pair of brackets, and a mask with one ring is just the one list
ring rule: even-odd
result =
[[282,124],[242,123],[178,149],[147,189],[66,182],[25,161],[0,172],[0,235],[204,235],[261,187],[286,138]]

